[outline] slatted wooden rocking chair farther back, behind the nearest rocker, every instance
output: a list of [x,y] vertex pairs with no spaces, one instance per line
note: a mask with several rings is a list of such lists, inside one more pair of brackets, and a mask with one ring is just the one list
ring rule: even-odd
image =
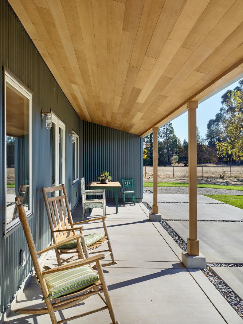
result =
[[[61,191],[62,195],[48,198],[47,193],[53,191]],[[78,244],[77,241],[75,240],[69,241],[68,243],[59,245],[58,248],[55,249],[57,263],[59,266],[64,262],[70,261],[76,256],[77,258],[84,259],[84,258],[89,258],[89,254],[100,253],[100,252],[107,252],[105,254],[105,257],[107,257],[109,254],[111,257],[111,262],[103,263],[102,264],[103,267],[116,264],[111,249],[110,238],[108,236],[106,223],[105,223],[106,216],[92,218],[86,221],[74,223],[69,208],[67,192],[64,184],[59,187],[49,187],[49,188],[42,187],[42,192],[43,192],[47,216],[51,228],[53,243],[54,244],[58,243],[59,241],[67,237],[71,237],[75,235],[76,230],[79,230],[81,234],[80,237],[81,242],[78,241]],[[102,220],[104,234],[92,233],[92,234],[84,235],[82,229],[85,228],[85,226],[82,225],[97,220]],[[74,227],[75,225],[80,225],[80,224],[82,225],[79,227]],[[108,249],[102,251],[95,251],[105,243],[108,244]],[[73,255],[67,259],[61,260],[60,256],[62,254],[73,254]]]

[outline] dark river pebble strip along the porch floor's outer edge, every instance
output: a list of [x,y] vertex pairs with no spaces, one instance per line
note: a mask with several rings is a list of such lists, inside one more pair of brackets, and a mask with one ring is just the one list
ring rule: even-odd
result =
[[[148,203],[143,202],[146,208],[152,213],[152,208]],[[187,243],[170,227],[165,220],[162,220],[160,224],[164,227],[164,229],[168,232],[168,234],[173,238],[173,240],[179,245],[182,251],[187,251]],[[206,269],[203,269],[202,272],[205,276],[210,280],[210,282],[214,285],[214,287],[220,292],[220,294],[227,300],[231,307],[237,312],[237,314],[243,319],[243,300],[240,299],[238,295],[236,295],[233,290],[226,285],[226,283],[221,280],[217,275],[213,272],[213,267],[243,267],[242,263],[217,263],[211,262],[206,263]]]

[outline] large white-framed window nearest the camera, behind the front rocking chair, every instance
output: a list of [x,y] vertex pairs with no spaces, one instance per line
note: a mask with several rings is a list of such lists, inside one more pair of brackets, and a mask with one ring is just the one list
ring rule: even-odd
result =
[[31,93],[5,71],[5,230],[19,222],[16,196],[31,214],[31,104]]

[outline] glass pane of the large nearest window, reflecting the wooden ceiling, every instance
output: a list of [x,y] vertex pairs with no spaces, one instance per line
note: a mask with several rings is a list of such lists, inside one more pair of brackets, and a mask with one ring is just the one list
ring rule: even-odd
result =
[[6,223],[18,217],[15,197],[26,212],[29,200],[29,98],[6,83]]

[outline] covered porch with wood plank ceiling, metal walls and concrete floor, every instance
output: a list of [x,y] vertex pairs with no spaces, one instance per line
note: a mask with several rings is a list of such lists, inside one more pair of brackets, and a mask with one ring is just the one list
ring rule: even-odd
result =
[[[113,181],[133,178],[136,205],[120,204],[118,214],[113,204],[107,205],[107,225],[117,264],[104,268],[104,273],[120,323],[242,323],[203,272],[188,266],[186,259],[181,262],[183,255],[196,260],[200,256],[202,263],[194,268],[205,265],[197,231],[196,110],[205,98],[243,73],[242,2],[8,2],[2,0],[0,8],[1,27],[7,26],[3,28],[7,36],[1,58],[9,69],[7,73],[13,74],[24,88],[28,87],[33,96],[28,142],[33,147],[33,155],[31,152],[28,157],[33,165],[33,172],[31,168],[28,171],[33,204],[28,220],[38,249],[51,241],[42,186],[65,183],[77,222],[82,215],[81,177],[87,184],[106,169]],[[17,54],[12,57],[12,52]],[[41,119],[42,110],[45,119]],[[184,238],[188,253],[185,250],[183,254],[158,222],[161,214],[157,194],[157,132],[158,127],[185,111],[189,115],[189,226]],[[45,124],[48,114],[56,120],[56,129],[52,126],[56,150],[51,149],[50,128]],[[59,124],[62,135],[57,132]],[[151,132],[154,190],[149,210],[141,202],[142,148],[143,137]],[[75,135],[75,142],[71,142],[70,135]],[[62,156],[57,154],[60,143]],[[57,177],[52,177],[52,159],[61,170],[55,169]],[[2,191],[4,206],[6,193]],[[108,198],[113,196],[109,193]],[[94,209],[86,216],[100,214],[102,211]],[[5,224],[5,212],[2,218]],[[32,269],[18,219],[14,224],[17,225],[12,228],[3,226],[5,231],[0,241],[3,255],[0,270],[4,273],[0,279],[2,312]],[[97,221],[90,226],[85,231],[98,231],[101,223]],[[24,268],[19,264],[19,248],[27,251]],[[42,260],[42,265],[48,264],[56,265],[54,252]],[[40,287],[30,276],[5,313],[5,323],[48,323],[49,314],[14,313],[20,307],[41,307],[41,298]],[[101,303],[93,296],[57,312],[57,318],[62,321],[75,316],[82,306],[86,312],[96,302],[97,306]],[[80,319],[73,322],[80,323]],[[84,324],[96,322],[110,323],[108,313],[82,318]]]

